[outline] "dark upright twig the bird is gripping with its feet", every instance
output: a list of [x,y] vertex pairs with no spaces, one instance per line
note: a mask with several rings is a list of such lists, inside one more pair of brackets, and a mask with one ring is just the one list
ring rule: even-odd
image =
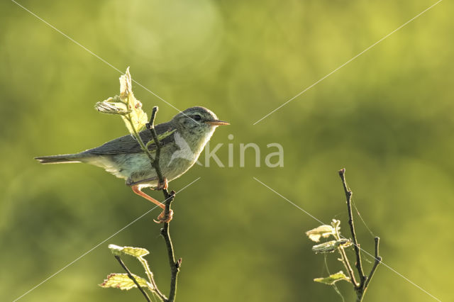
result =
[[[153,107],[153,111],[151,113],[151,118],[150,118],[150,123],[147,123],[146,127],[148,128],[148,130],[150,130],[151,135],[153,136],[153,140],[155,141],[155,145],[156,145],[155,158],[154,158],[154,160],[152,160],[151,164],[152,164],[153,168],[155,168],[155,170],[156,170],[157,179],[159,181],[159,184],[164,184],[165,177],[162,175],[162,172],[161,172],[161,169],[159,166],[161,145],[160,145],[160,141],[157,139],[157,134],[156,134],[156,130],[155,130],[155,117],[156,117],[157,110],[158,110],[157,106]],[[148,152],[148,150],[146,150],[145,152]],[[164,194],[164,198],[165,198],[164,217],[168,217],[170,215],[170,205],[175,198],[175,191],[171,191],[169,193],[167,188],[163,188],[162,194]],[[177,261],[175,261],[175,252],[173,250],[172,238],[170,237],[169,228],[170,228],[170,224],[164,223],[164,226],[161,229],[161,235],[162,235],[162,237],[164,237],[165,245],[167,247],[167,255],[169,257],[170,272],[172,274],[170,277],[169,298],[167,298],[167,300],[165,300],[165,301],[173,302],[173,301],[175,301],[175,296],[177,294],[177,276],[178,276],[179,267],[181,265],[182,259],[180,258]]]

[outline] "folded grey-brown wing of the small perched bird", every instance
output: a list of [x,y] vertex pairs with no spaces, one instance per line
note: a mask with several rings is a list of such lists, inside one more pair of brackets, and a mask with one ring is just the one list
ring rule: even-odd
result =
[[[170,142],[174,142],[175,138],[173,133],[177,130],[175,127],[172,127],[170,123],[161,123],[155,126],[157,139],[161,142],[162,146],[167,145]],[[150,130],[145,129],[140,131],[140,138],[142,138],[145,145],[148,141],[153,140]],[[153,142],[148,146],[148,150],[155,150],[156,145]],[[99,147],[85,150],[82,152],[84,155],[116,155],[120,153],[137,153],[142,152],[140,145],[133,138],[132,135],[125,135],[121,138],[116,138],[109,142],[104,143]]]

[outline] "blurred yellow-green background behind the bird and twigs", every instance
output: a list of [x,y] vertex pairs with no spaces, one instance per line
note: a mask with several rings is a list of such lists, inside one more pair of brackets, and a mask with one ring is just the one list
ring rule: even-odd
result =
[[[172,236],[183,258],[178,301],[341,301],[323,256],[304,232],[320,220],[346,225],[337,171],[384,263],[442,301],[454,301],[454,5],[443,1],[257,125],[259,118],[416,16],[435,1],[20,1],[179,109],[206,106],[231,122],[223,143],[234,167],[194,166],[172,181]],[[12,301],[150,209],[121,179],[84,164],[47,165],[38,155],[79,152],[126,134],[94,111],[118,94],[119,73],[13,2],[0,10],[0,296]],[[135,85],[157,121],[177,113]],[[234,135],[228,140],[228,135]],[[255,142],[240,167],[240,143]],[[263,164],[284,147],[284,167]],[[201,160],[203,161],[203,155]],[[151,193],[161,197],[160,193]],[[169,269],[155,210],[21,301],[141,301],[137,290],[97,284],[121,267],[109,243],[150,250],[157,284]],[[373,236],[356,220],[362,247]],[[349,255],[353,257],[353,252]],[[331,272],[342,269],[330,255]],[[366,257],[367,258],[367,257]],[[141,273],[132,259],[126,259]],[[367,271],[371,262],[365,261]],[[339,284],[346,301],[353,292]],[[379,267],[365,301],[435,301]]]

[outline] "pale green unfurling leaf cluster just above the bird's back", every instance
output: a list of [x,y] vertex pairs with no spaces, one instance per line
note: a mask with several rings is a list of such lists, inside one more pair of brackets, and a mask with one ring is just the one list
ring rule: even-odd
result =
[[133,94],[129,67],[126,69],[126,73],[120,77],[120,96],[97,102],[94,108],[102,113],[120,115],[131,134],[135,131],[140,132],[140,130],[145,128],[145,124],[148,123],[148,116],[142,110],[142,103],[135,99]]

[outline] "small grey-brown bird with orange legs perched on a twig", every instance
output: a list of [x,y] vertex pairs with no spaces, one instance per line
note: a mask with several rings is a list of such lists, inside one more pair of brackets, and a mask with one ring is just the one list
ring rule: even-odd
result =
[[[132,135],[125,135],[104,143],[99,147],[83,152],[66,155],[35,157],[43,164],[60,164],[70,162],[85,162],[104,168],[116,177],[126,179],[126,185],[133,192],[157,204],[163,210],[165,206],[155,198],[143,193],[142,189],[162,189],[167,187],[167,181],[182,176],[199,158],[199,155],[213,135],[218,125],[229,125],[218,120],[216,114],[204,107],[191,107],[178,113],[167,123],[155,125],[157,138],[161,145],[160,169],[166,178],[165,184],[159,184],[155,169],[150,164],[148,156],[140,149],[140,145]],[[140,131],[145,145],[153,137],[150,130]],[[155,143],[148,145],[148,150],[155,152]],[[158,222],[168,222],[172,213],[165,217],[164,211],[157,217]]]

